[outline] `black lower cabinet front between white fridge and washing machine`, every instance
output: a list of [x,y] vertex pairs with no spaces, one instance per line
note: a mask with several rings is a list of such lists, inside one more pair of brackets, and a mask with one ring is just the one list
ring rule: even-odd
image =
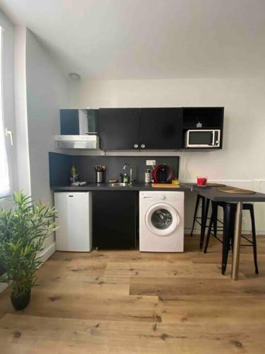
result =
[[93,247],[135,249],[137,207],[137,192],[93,192]]

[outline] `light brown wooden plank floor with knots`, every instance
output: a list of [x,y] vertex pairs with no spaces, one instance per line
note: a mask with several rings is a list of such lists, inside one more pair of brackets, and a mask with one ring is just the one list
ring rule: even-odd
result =
[[0,295],[0,353],[265,353],[265,238],[242,250],[240,280],[220,250],[185,237],[184,253],[56,252],[29,306]]

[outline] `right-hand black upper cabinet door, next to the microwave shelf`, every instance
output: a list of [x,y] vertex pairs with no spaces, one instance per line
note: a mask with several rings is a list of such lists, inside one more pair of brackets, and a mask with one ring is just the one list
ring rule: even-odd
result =
[[141,108],[140,149],[180,149],[182,108]]

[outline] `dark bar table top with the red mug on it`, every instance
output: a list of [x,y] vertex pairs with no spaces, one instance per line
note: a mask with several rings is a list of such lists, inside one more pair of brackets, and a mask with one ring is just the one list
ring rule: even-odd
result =
[[219,192],[218,187],[201,188],[194,186],[194,183],[184,183],[183,185],[214,202],[265,202],[264,193],[232,194]]

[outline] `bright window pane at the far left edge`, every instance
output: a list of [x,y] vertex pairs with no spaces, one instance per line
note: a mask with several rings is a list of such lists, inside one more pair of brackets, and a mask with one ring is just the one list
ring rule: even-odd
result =
[[4,195],[8,195],[11,192],[9,171],[8,171],[8,160],[7,160],[7,153],[6,153],[6,134],[5,134],[4,114],[3,114],[2,35],[3,35],[3,28],[0,27],[0,197],[4,197]]

